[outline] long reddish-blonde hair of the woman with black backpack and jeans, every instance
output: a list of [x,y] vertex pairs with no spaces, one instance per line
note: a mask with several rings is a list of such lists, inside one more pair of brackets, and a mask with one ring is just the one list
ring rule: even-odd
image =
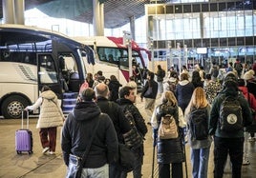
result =
[[191,100],[189,102],[189,109],[202,109],[207,107],[208,101],[206,99],[205,92],[202,87],[194,89]]

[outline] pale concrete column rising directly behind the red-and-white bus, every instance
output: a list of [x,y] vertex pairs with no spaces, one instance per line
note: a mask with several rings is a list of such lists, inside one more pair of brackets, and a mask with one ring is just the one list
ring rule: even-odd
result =
[[[94,0],[93,1],[93,10],[94,10],[94,17],[93,17],[93,23],[94,23],[94,32],[96,36],[101,36],[102,34],[102,30],[101,30],[101,26],[102,23],[100,21],[100,14],[102,13],[100,10],[100,6],[99,6],[99,1],[98,0]],[[103,12],[104,14],[104,12]]]

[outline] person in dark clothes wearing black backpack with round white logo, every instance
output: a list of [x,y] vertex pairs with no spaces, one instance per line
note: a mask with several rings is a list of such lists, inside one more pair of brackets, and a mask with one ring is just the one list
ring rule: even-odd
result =
[[224,175],[227,154],[232,177],[241,177],[244,154],[244,127],[252,122],[248,102],[238,89],[238,77],[230,71],[224,76],[223,89],[212,103],[209,134],[214,136],[214,178]]

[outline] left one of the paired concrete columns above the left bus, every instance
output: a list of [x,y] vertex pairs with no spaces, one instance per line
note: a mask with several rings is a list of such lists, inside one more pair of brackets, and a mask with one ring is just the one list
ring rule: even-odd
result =
[[4,24],[14,24],[14,5],[12,0],[3,0]]

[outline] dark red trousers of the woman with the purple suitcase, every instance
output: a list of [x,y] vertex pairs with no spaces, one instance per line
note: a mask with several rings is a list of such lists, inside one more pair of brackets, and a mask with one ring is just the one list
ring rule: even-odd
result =
[[43,148],[50,148],[50,151],[55,151],[57,128],[41,128],[39,131],[40,140]]

